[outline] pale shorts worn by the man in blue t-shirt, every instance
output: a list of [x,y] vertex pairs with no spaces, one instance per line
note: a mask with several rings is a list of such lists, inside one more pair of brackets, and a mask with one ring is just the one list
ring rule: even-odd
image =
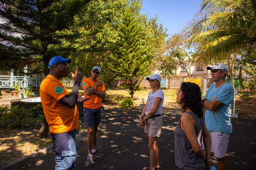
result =
[[217,158],[223,158],[226,156],[228,141],[230,133],[209,131],[212,138],[211,152]]

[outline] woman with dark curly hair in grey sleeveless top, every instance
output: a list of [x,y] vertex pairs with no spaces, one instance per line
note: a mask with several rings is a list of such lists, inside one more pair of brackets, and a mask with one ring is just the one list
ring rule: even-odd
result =
[[195,83],[183,82],[177,90],[177,103],[184,113],[174,131],[175,164],[180,169],[210,168],[214,165],[210,154],[211,135],[204,123],[200,87]]

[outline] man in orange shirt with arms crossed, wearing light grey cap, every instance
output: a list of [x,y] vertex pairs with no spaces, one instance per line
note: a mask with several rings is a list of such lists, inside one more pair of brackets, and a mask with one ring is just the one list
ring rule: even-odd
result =
[[94,66],[91,71],[91,77],[83,80],[84,96],[90,97],[90,100],[84,102],[84,120],[87,128],[87,148],[88,156],[86,160],[86,166],[92,166],[93,156],[103,158],[96,149],[98,127],[101,121],[103,106],[101,98],[105,98],[106,90],[102,80],[97,79],[100,75],[100,67]]

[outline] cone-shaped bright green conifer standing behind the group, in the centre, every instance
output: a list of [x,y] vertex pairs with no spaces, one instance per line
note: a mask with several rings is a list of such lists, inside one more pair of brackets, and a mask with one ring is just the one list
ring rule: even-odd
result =
[[130,10],[125,10],[118,32],[117,45],[111,55],[109,67],[120,78],[127,79],[123,87],[129,90],[131,98],[140,89],[138,80],[148,73],[150,57],[146,55],[146,47],[141,44],[141,30]]

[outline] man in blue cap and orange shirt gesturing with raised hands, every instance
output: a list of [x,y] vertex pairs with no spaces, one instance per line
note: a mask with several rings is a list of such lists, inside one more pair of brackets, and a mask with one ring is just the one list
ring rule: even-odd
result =
[[69,74],[71,59],[60,56],[52,57],[49,62],[50,73],[40,84],[40,96],[44,115],[50,126],[50,133],[55,151],[55,169],[74,169],[76,162],[76,129],[78,128],[78,110],[76,102],[89,98],[78,95],[83,74],[71,73],[75,81],[69,94],[60,79]]

